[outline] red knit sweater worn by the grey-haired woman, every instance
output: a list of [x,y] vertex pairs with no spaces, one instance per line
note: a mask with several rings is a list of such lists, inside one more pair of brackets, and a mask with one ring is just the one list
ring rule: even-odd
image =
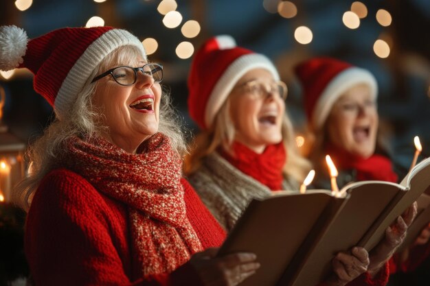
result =
[[[203,248],[225,232],[186,180],[187,216]],[[124,204],[106,197],[72,171],[51,171],[27,215],[25,254],[37,285],[201,285],[187,263],[171,274],[131,281],[131,236]]]

